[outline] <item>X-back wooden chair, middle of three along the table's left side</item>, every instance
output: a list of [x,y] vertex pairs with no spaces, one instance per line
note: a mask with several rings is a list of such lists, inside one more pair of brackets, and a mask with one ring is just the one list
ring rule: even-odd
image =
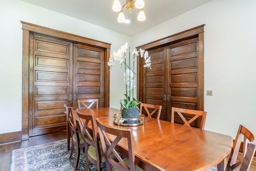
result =
[[[96,165],[97,170],[101,171],[103,167],[106,167],[106,162],[102,151],[102,145],[98,139],[97,125],[94,115],[86,115],[86,113],[82,113],[78,109],[76,109],[76,113],[78,115],[82,135],[84,135],[82,138],[84,140],[86,153],[85,171],[88,171],[89,162]],[[88,128],[88,125],[90,125],[90,128]]]

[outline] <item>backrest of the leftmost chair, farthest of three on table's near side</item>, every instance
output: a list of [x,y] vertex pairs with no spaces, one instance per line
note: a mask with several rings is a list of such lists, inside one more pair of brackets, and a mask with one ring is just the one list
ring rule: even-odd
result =
[[68,107],[66,104],[64,104],[64,107],[65,107],[66,119],[68,121],[71,134],[72,135],[76,134],[76,136],[78,136],[78,133],[77,133],[78,125],[76,124],[74,109],[73,107]]

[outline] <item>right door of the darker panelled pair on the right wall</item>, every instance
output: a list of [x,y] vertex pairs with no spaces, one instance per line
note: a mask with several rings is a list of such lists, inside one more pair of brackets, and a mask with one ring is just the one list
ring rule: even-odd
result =
[[[170,71],[168,94],[170,94],[168,113],[171,107],[199,110],[199,61],[198,61],[198,38],[184,40],[168,46],[168,61]],[[171,121],[170,115],[167,120]],[[190,117],[190,116],[185,116]],[[184,123],[180,117],[174,116],[176,123]],[[193,124],[197,127],[200,118]]]

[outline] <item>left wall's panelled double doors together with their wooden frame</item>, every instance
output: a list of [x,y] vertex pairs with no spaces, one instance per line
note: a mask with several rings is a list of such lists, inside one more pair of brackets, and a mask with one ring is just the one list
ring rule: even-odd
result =
[[66,129],[64,104],[109,107],[110,44],[22,22],[22,140]]

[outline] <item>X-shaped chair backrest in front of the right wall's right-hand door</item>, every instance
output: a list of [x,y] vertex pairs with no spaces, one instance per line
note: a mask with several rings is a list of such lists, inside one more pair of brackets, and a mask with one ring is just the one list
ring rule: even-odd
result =
[[[199,110],[191,110],[191,109],[182,109],[182,108],[178,108],[178,107],[172,107],[172,114],[171,114],[171,122],[172,123],[174,123],[174,112],[178,113],[178,115],[180,116],[180,118],[184,122],[184,125],[187,125],[187,126],[190,126],[190,127],[191,127],[190,123],[195,121],[199,116],[202,116],[202,118],[200,119],[198,128],[199,129],[204,129],[204,124],[205,124],[205,120],[206,120],[206,113],[207,113],[206,111],[199,111]],[[189,117],[185,118],[184,114],[185,115],[189,114],[190,116],[192,116],[192,118],[189,118]]]

